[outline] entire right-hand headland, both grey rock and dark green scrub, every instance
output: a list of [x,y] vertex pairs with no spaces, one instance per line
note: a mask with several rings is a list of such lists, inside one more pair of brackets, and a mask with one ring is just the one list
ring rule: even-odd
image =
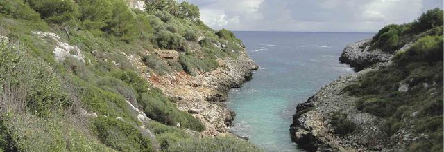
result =
[[359,71],[298,104],[291,136],[309,151],[443,151],[443,10],[350,44]]

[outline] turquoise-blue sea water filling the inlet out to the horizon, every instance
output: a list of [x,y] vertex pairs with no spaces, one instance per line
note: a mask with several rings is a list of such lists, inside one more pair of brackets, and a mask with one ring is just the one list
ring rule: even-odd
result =
[[250,138],[267,151],[301,151],[291,142],[289,126],[296,104],[352,68],[340,64],[346,44],[372,33],[235,32],[260,66],[250,82],[229,93],[237,113],[232,133]]

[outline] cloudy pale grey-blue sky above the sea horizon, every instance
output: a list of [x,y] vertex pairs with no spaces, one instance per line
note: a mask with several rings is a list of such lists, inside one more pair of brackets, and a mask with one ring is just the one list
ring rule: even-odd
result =
[[[185,1],[185,0],[179,0]],[[443,0],[188,0],[215,30],[377,32],[407,23]]]

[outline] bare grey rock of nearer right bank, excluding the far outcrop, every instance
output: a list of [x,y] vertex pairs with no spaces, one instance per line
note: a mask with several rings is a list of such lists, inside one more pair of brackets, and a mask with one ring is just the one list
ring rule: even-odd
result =
[[[298,104],[290,126],[291,139],[308,151],[381,151],[384,140],[377,139],[384,135],[379,131],[384,120],[357,111],[353,106],[357,98],[342,91],[348,83],[370,70],[341,77],[321,88],[307,102]],[[346,113],[357,129],[345,136],[334,134],[330,122],[336,111]]]

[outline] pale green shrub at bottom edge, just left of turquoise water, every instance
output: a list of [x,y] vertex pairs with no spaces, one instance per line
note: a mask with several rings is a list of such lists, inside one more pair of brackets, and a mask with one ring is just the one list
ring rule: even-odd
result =
[[190,139],[176,142],[172,146],[169,146],[167,151],[180,151],[180,152],[192,152],[192,151],[264,151],[259,149],[254,144],[250,144],[244,140],[240,140],[235,137],[205,137],[203,139]]

